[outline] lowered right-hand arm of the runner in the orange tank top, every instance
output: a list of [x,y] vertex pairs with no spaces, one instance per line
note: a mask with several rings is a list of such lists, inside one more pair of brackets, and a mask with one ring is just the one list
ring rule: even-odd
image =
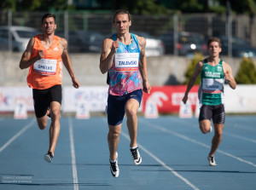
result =
[[72,78],[73,87],[76,89],[79,89],[80,83],[73,72],[72,63],[67,54],[67,40],[64,38],[60,38],[60,44],[61,44],[61,49],[63,49],[62,55],[61,55],[62,62],[64,66],[67,68],[67,72],[69,73],[70,77]]

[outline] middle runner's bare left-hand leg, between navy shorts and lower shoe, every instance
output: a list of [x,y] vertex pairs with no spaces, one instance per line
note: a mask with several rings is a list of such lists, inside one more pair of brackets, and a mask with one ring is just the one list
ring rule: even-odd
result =
[[109,159],[116,159],[116,152],[119,146],[119,135],[121,133],[122,124],[113,126],[108,125],[108,148],[109,148]]

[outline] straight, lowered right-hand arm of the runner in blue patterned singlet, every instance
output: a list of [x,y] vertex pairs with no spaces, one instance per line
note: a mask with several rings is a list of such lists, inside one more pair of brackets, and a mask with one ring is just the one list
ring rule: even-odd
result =
[[143,78],[143,91],[149,94],[151,86],[148,82],[147,58],[145,54],[145,48],[147,43],[144,37],[137,36],[137,41],[141,49],[140,60],[139,60],[139,70]]

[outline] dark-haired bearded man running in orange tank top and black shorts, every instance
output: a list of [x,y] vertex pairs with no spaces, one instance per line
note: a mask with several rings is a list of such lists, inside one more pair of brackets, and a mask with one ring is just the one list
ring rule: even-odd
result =
[[60,134],[62,62],[67,68],[73,87],[80,83],[75,77],[73,66],[67,54],[67,40],[55,36],[55,14],[44,14],[43,35],[32,37],[20,60],[20,69],[29,67],[27,84],[32,88],[34,109],[40,130],[47,126],[47,115],[51,118],[49,127],[49,151],[44,159],[52,162]]

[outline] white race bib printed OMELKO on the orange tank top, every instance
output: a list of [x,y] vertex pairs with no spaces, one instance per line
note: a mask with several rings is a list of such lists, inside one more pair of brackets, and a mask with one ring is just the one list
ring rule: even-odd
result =
[[34,72],[41,75],[55,75],[57,60],[41,59],[34,63]]

